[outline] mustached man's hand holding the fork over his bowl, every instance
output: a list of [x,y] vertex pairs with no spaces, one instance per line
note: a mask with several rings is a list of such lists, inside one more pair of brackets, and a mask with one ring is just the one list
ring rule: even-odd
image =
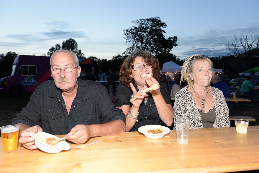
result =
[[[80,133],[75,134],[78,131],[80,131]],[[76,144],[83,144],[88,141],[90,137],[92,137],[92,131],[93,129],[91,125],[78,124],[70,130],[69,134],[65,135],[64,137]]]

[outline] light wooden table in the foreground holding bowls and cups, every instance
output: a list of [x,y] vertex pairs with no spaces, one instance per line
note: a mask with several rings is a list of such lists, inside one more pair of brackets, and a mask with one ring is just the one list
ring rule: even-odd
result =
[[[62,137],[63,135],[58,135]],[[259,126],[247,134],[235,127],[190,129],[189,142],[178,144],[176,131],[169,137],[149,139],[139,132],[124,132],[90,139],[102,140],[83,149],[57,154],[39,149],[3,153],[1,172],[233,172],[259,169]]]

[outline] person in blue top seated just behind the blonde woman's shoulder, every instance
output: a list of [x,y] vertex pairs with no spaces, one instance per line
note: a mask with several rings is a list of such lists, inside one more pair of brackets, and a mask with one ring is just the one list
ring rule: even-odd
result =
[[[222,91],[224,97],[229,97],[229,87],[225,82],[220,81],[220,78],[218,75],[213,75],[211,79],[212,87],[220,89]],[[231,101],[227,101],[227,105],[231,105]]]

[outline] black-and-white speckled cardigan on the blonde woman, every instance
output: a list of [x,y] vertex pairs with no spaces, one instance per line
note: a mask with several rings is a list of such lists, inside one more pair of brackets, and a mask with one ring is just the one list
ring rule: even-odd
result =
[[[211,88],[216,112],[216,119],[212,127],[230,127],[229,110],[224,95],[218,88]],[[190,129],[203,128],[202,117],[200,116],[196,102],[187,87],[184,87],[176,93],[174,113],[174,129],[176,129],[176,120],[191,121]]]

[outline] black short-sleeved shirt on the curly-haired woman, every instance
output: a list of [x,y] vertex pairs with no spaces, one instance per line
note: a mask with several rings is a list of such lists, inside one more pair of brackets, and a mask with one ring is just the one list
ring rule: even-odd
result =
[[[159,82],[160,84],[160,92],[166,101],[167,104],[171,103],[171,97],[168,92],[168,88],[165,83]],[[138,92],[139,89],[135,86],[136,91]],[[127,87],[126,85],[120,84],[118,85],[116,89],[116,94],[114,96],[114,103],[116,107],[121,107],[123,105],[130,105],[132,106],[132,103],[130,102],[131,95],[133,94],[131,88]],[[129,117],[126,117],[129,118]],[[161,125],[162,121],[160,119],[160,116],[157,112],[156,105],[154,102],[154,99],[152,97],[152,94],[148,94],[147,104],[145,105],[144,102],[140,104],[139,107],[139,116],[138,116],[138,122],[133,126],[133,128],[130,130],[131,132],[138,131],[138,128],[145,125],[151,125],[151,124],[157,124]]]

